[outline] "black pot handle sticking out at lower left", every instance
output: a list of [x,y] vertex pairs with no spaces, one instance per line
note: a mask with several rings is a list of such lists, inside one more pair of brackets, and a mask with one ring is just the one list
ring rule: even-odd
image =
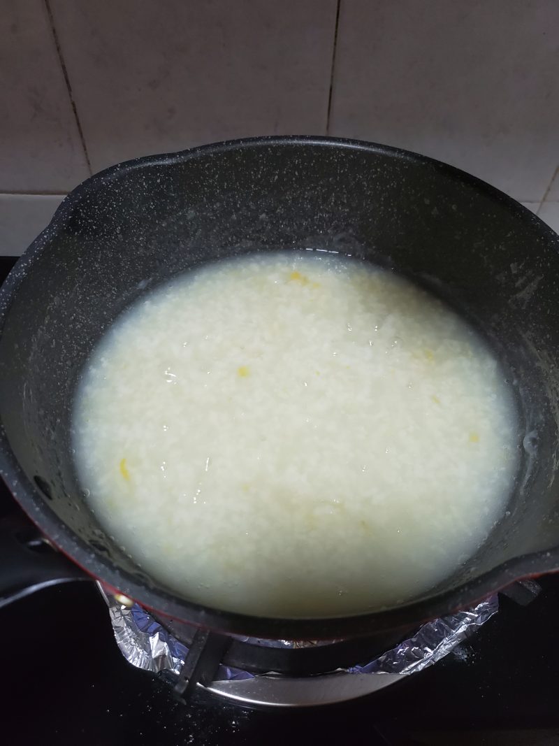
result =
[[91,580],[20,510],[0,518],[0,608],[47,586]]

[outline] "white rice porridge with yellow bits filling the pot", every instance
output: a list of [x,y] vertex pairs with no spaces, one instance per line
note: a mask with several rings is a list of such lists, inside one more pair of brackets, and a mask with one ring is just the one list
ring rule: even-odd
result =
[[517,419],[464,320],[385,269],[248,255],[143,295],[83,369],[101,525],[206,606],[347,615],[426,592],[505,511]]

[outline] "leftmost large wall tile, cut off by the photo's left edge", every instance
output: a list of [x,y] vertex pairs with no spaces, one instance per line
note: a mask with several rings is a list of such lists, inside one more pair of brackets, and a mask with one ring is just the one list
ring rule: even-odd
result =
[[71,189],[89,171],[44,0],[1,0],[0,40],[0,192]]

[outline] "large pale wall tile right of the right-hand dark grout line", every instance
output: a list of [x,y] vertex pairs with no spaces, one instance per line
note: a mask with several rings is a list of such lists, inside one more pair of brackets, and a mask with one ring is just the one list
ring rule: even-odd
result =
[[540,201],[559,154],[556,0],[342,0],[330,132]]

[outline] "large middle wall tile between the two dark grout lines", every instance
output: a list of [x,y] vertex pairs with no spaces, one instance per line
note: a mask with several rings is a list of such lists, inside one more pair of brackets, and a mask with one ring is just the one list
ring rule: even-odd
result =
[[94,170],[256,134],[324,134],[335,0],[51,0]]

